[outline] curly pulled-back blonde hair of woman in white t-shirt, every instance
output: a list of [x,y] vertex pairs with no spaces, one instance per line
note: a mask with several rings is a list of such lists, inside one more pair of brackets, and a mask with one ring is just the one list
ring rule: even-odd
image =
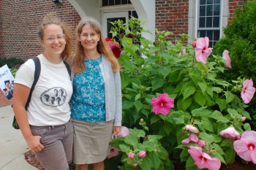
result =
[[67,59],[71,55],[72,38],[69,34],[69,29],[67,28],[67,25],[65,23],[61,22],[61,19],[57,17],[56,12],[49,12],[43,18],[42,23],[39,26],[39,29],[37,31],[39,39],[41,39],[41,40],[43,39],[45,28],[50,24],[56,24],[59,27],[61,27],[61,29],[63,31],[63,34],[65,35],[66,45],[65,45],[65,48],[64,48],[63,52],[61,53],[61,58],[63,60],[67,61]]

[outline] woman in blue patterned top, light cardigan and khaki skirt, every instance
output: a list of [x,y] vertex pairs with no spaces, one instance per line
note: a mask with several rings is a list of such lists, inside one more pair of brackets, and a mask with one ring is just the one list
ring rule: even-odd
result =
[[76,28],[72,59],[74,125],[73,162],[76,170],[104,170],[112,134],[121,131],[121,80],[119,65],[102,36],[99,23],[84,18]]

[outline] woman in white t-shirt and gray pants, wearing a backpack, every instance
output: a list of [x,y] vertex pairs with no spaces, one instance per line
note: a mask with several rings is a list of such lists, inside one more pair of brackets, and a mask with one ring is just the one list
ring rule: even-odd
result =
[[[34,61],[20,66],[14,85],[13,109],[20,130],[45,170],[67,170],[72,163],[73,127],[69,99],[72,82],[64,64],[70,55],[71,38],[55,14],[46,15],[39,26],[39,40],[44,52],[37,57],[41,64],[39,80],[25,108],[34,82]],[[56,89],[66,96],[61,104],[45,102],[45,96],[55,98]]]

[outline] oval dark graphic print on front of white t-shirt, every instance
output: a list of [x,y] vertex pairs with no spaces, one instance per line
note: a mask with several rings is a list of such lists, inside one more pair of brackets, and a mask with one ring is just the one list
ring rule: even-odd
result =
[[42,104],[48,107],[58,107],[66,101],[67,92],[64,88],[54,87],[41,94]]

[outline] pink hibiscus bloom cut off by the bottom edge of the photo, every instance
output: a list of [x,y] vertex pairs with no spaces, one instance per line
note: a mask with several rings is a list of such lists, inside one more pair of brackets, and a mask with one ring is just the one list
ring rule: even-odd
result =
[[198,169],[218,170],[221,162],[217,158],[211,158],[206,152],[203,152],[200,147],[189,147],[189,154],[192,156]]

